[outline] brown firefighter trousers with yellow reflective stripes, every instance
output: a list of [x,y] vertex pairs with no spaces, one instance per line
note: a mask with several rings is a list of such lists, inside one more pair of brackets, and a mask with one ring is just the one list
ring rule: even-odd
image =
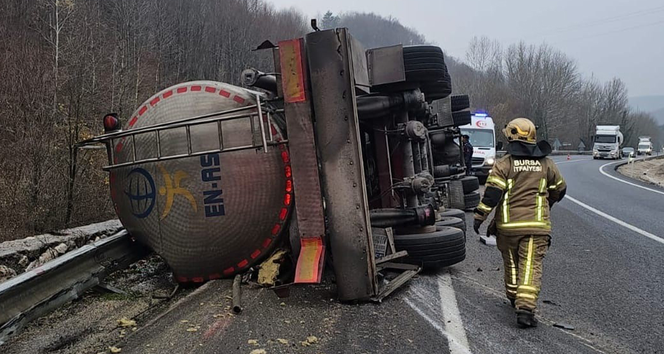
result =
[[542,282],[542,260],[550,236],[498,234],[496,241],[505,264],[507,298],[515,300],[517,309],[534,311]]

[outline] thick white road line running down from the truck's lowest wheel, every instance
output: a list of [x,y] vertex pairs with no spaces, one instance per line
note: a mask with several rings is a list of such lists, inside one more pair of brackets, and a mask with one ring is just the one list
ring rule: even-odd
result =
[[470,353],[468,337],[465,334],[463,321],[461,321],[461,313],[459,313],[449,272],[438,276],[438,292],[440,293],[440,308],[445,319],[445,330],[450,342],[450,352]]

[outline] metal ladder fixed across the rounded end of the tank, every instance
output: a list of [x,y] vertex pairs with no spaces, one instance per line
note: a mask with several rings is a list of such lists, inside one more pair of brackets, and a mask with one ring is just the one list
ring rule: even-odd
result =
[[[256,112],[254,112],[256,111]],[[189,118],[184,118],[181,120],[175,120],[173,122],[165,122],[159,124],[153,124],[151,126],[145,126],[136,129],[106,133],[103,135],[98,135],[92,139],[87,139],[76,144],[76,147],[88,147],[91,145],[104,144],[106,145],[106,150],[108,151],[108,161],[109,165],[102,167],[104,171],[110,171],[112,169],[117,169],[120,167],[127,167],[133,165],[139,165],[141,163],[149,162],[158,162],[158,161],[167,161],[172,159],[181,159],[183,157],[192,157],[200,155],[208,155],[210,153],[224,153],[229,151],[240,151],[247,149],[262,149],[264,153],[268,153],[268,146],[278,145],[288,143],[286,139],[276,141],[272,133],[268,133],[266,124],[271,126],[272,114],[283,112],[283,110],[272,110],[271,108],[263,107],[260,95],[256,95],[256,104],[252,106],[233,108],[232,110],[225,110],[221,112],[214,112],[210,114],[203,114],[201,116],[194,116]],[[263,119],[265,114],[266,120]],[[256,127],[255,118],[258,118],[258,126]],[[222,132],[222,123],[229,122],[232,120],[242,120],[248,119],[251,126],[252,133],[252,143],[251,145],[242,145],[237,147],[224,147],[224,137]],[[206,151],[193,151],[191,143],[191,128],[194,126],[201,126],[203,124],[216,123],[216,130],[218,136],[218,148],[211,149]],[[161,153],[161,132],[165,130],[172,130],[175,128],[185,128],[187,133],[187,153],[179,153],[175,155],[162,155]],[[136,155],[136,135],[154,133],[155,135],[155,144],[157,148],[156,157],[148,157],[145,159],[137,159]],[[260,141],[257,141],[257,135],[260,135]],[[116,151],[114,147],[116,146],[115,141],[124,141],[125,139],[131,139],[131,155],[133,159],[131,161],[117,163],[116,162]]]

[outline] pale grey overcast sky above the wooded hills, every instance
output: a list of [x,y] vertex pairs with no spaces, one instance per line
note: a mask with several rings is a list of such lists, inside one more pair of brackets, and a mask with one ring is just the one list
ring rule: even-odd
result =
[[546,42],[588,76],[621,78],[629,96],[664,95],[663,0],[268,1],[309,17],[327,10],[391,15],[458,58],[473,36]]

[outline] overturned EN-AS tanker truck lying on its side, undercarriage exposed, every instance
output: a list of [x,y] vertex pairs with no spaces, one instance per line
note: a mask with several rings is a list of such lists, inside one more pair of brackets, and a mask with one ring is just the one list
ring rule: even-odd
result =
[[[110,191],[122,224],[181,283],[247,272],[291,250],[290,283],[321,281],[340,300],[389,294],[421,267],[465,258],[463,211],[479,203],[436,46],[367,50],[347,29],[274,45],[274,72],[247,88],[171,86],[126,118],[104,117]],[[398,274],[380,288],[378,272]]]

